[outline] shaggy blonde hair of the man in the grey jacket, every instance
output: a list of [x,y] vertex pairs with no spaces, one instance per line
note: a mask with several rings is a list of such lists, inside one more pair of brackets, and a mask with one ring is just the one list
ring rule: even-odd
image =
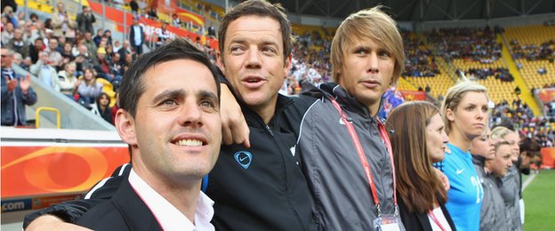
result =
[[332,67],[334,82],[339,83],[340,70],[343,67],[343,55],[348,47],[355,45],[357,40],[372,39],[390,52],[395,58],[395,69],[391,78],[391,85],[397,84],[403,68],[405,68],[405,52],[403,38],[398,32],[397,22],[378,5],[371,9],[361,10],[351,14],[335,32],[332,41]]

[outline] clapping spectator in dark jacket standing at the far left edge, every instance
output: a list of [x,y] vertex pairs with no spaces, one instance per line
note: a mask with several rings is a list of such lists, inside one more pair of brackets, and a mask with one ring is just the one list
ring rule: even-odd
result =
[[2,47],[2,125],[27,125],[25,106],[36,103],[36,92],[31,87],[31,76],[17,75],[12,69],[13,52]]

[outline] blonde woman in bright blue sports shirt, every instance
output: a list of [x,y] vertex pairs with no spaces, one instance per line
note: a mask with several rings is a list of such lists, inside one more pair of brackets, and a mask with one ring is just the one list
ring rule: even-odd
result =
[[486,87],[463,80],[449,88],[441,106],[450,140],[442,166],[451,184],[446,208],[457,230],[479,230],[483,189],[469,150],[486,129],[488,102]]

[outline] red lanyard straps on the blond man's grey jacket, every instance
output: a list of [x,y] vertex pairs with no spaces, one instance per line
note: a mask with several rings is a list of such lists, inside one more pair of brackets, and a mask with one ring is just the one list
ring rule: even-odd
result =
[[[362,167],[365,171],[366,179],[368,180],[368,185],[370,186],[370,191],[372,191],[372,197],[374,198],[374,203],[378,210],[378,217],[380,217],[382,213],[382,210],[380,208],[380,200],[378,199],[378,194],[376,193],[376,189],[372,181],[372,171],[370,171],[370,164],[368,164],[364,150],[360,145],[360,140],[358,139],[357,131],[355,131],[355,127],[352,125],[352,123],[350,123],[347,120],[347,115],[345,115],[345,113],[342,111],[342,108],[339,106],[337,101],[334,100],[333,98],[330,98],[330,101],[334,105],[334,108],[337,110],[337,112],[339,112],[339,114],[341,115],[342,121],[343,123],[345,123],[345,126],[349,131],[350,139],[352,139],[355,145],[355,148],[357,149],[358,158],[360,159],[360,163],[362,163]],[[395,165],[393,164],[393,151],[391,148],[390,138],[387,135],[387,131],[385,131],[385,126],[383,126],[383,123],[380,122],[380,120],[377,120],[377,121],[378,121],[378,131],[380,132],[380,136],[382,136],[383,143],[385,144],[385,147],[387,148],[388,153],[390,155],[391,170],[393,171],[393,200],[394,200],[393,203],[395,204],[395,215],[397,216],[398,215],[397,194],[395,193],[397,188],[396,188],[396,182],[395,182]]]

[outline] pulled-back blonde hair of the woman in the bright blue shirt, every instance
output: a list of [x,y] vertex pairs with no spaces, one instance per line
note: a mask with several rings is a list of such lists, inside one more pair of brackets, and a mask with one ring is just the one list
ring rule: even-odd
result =
[[445,130],[447,134],[451,131],[451,121],[447,119],[446,111],[447,109],[456,111],[457,106],[461,103],[466,92],[482,92],[486,95],[487,101],[489,102],[489,96],[487,96],[487,88],[485,86],[462,77],[459,83],[454,84],[454,86],[447,90],[446,97],[441,103],[441,118],[443,119],[443,123],[446,124]]

